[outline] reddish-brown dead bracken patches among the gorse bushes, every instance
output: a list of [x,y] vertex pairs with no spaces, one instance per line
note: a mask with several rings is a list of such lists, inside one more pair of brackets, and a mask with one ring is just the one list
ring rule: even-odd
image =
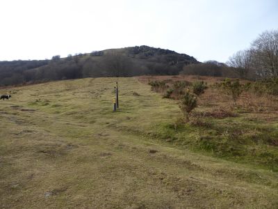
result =
[[[204,81],[208,84],[209,88],[205,93],[198,98],[199,113],[195,112],[199,116],[202,114],[204,117],[211,116],[213,118],[225,118],[236,116],[236,111],[240,113],[258,114],[256,118],[263,119],[265,121],[275,121],[278,114],[278,98],[266,97],[264,95],[255,95],[254,93],[244,92],[240,95],[240,98],[235,102],[231,100],[228,95],[224,95],[218,89],[213,88],[215,82],[221,82],[224,77],[205,77],[195,75],[175,75],[175,76],[140,76],[137,79],[148,84],[151,81],[165,81],[172,83],[175,81],[197,82]],[[249,81],[240,80],[242,83]],[[161,93],[165,93],[164,91]],[[173,95],[172,99],[178,100],[179,95]],[[238,110],[239,109],[239,110]]]

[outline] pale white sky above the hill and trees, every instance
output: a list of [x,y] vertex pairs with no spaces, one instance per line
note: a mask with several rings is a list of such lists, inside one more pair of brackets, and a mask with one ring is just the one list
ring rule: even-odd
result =
[[225,62],[278,29],[277,0],[0,0],[0,60],[149,45]]

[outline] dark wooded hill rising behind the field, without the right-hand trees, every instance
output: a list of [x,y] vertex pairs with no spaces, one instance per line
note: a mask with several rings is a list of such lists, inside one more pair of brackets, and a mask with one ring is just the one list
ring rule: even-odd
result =
[[130,77],[177,75],[183,65],[199,63],[193,56],[154,47],[106,49],[51,61],[0,62],[0,85],[78,79],[82,77]]

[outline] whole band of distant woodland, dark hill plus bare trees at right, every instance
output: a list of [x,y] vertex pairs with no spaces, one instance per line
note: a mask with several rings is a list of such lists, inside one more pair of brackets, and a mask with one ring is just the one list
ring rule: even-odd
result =
[[148,46],[106,49],[90,54],[59,55],[51,60],[0,61],[0,86],[85,77],[201,75],[259,79],[278,76],[278,31],[265,31],[250,49],[227,63],[200,63],[193,56]]

